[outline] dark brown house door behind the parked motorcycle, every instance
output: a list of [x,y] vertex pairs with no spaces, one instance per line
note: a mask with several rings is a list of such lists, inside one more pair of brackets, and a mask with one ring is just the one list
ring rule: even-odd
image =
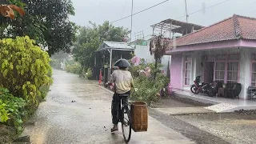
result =
[[214,82],[214,62],[205,62],[204,82]]

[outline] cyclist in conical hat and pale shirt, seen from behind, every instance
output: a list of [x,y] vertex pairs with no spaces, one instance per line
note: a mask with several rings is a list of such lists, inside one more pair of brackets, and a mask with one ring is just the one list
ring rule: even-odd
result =
[[[121,114],[121,99],[122,105],[128,104],[128,97],[120,97],[119,94],[129,94],[132,87],[134,87],[134,80],[130,74],[130,71],[127,70],[127,67],[130,66],[130,63],[126,59],[119,59],[115,62],[114,66],[118,66],[118,70],[114,70],[110,78],[110,84],[114,83],[114,95],[112,98],[111,114],[112,114],[112,123],[114,124],[111,132],[118,130],[118,122],[122,116]],[[119,103],[119,108],[117,107]],[[119,112],[118,112],[119,110]]]

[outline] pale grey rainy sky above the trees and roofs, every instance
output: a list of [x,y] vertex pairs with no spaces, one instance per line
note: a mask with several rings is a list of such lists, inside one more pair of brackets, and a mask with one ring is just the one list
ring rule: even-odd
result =
[[[76,15],[70,19],[79,26],[88,26],[89,21],[102,24],[108,20],[113,22],[119,18],[130,15],[131,0],[72,0]],[[134,0],[134,13],[154,6],[164,0]],[[186,0],[188,13],[202,9],[202,2],[206,7],[225,0]],[[202,26],[209,26],[219,22],[224,18],[229,18],[233,14],[256,18],[256,0],[230,0],[221,5],[211,7],[206,13],[198,12],[190,15],[189,22]],[[141,14],[134,16],[133,39],[134,33],[144,30],[144,34],[152,34],[150,25],[160,22],[167,18],[177,19],[185,15],[184,0],[170,0],[160,6],[146,10]],[[186,17],[178,20],[186,22]],[[130,18],[119,22],[114,22],[114,26],[124,26],[130,29]]]

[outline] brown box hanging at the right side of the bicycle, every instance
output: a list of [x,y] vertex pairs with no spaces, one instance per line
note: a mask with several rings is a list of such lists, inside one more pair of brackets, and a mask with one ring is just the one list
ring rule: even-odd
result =
[[145,102],[132,102],[130,106],[131,127],[134,132],[147,131],[148,112]]

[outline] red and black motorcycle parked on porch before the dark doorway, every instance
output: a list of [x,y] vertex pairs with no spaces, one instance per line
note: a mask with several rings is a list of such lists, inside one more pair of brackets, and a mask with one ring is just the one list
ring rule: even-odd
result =
[[193,94],[208,94],[210,97],[214,97],[214,84],[201,82],[201,76],[197,76],[194,80],[194,84],[190,86],[190,90]]

